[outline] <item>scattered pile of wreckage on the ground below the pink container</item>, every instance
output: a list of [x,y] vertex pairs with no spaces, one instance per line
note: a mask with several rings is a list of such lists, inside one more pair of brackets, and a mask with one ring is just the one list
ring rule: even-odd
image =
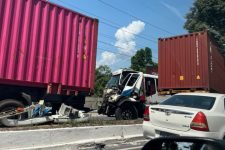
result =
[[91,117],[84,111],[62,104],[59,111],[51,114],[51,107],[47,107],[43,100],[25,108],[16,108],[0,113],[0,123],[6,127],[37,125],[43,123],[83,122]]

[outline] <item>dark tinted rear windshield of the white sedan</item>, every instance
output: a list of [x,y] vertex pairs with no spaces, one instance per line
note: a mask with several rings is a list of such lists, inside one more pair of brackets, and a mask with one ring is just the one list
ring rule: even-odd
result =
[[174,95],[160,103],[160,105],[182,106],[210,110],[216,98],[195,95]]

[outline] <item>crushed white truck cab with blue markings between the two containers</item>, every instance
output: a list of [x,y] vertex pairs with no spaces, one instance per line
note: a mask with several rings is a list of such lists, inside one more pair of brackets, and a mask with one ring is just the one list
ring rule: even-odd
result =
[[143,74],[130,69],[113,72],[103,94],[98,113],[116,119],[136,119],[142,117],[146,104],[157,103],[158,76]]

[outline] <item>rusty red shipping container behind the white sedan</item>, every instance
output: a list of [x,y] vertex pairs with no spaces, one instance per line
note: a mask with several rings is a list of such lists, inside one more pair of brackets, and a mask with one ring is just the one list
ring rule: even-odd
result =
[[225,60],[207,32],[159,39],[159,90],[225,93]]

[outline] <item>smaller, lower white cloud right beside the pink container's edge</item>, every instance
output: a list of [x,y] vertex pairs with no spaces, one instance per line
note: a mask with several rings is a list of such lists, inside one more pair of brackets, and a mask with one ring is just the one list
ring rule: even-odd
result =
[[101,59],[97,62],[97,66],[99,67],[100,65],[113,65],[116,62],[116,54],[108,52],[108,51],[104,51],[101,54]]

